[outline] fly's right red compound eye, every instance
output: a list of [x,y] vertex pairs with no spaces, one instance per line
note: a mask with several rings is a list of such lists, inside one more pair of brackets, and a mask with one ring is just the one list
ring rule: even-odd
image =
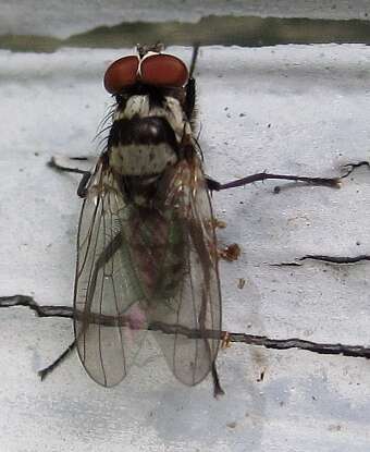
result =
[[184,86],[188,78],[186,65],[172,54],[151,54],[141,60],[141,82],[153,86]]

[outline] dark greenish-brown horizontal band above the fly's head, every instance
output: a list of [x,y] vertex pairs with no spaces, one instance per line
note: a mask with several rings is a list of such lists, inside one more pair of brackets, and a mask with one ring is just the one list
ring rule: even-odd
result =
[[202,17],[196,23],[131,22],[100,26],[58,39],[48,36],[0,35],[0,48],[52,52],[61,47],[123,48],[163,41],[166,45],[223,45],[262,47],[282,44],[370,44],[370,22],[365,20],[280,19],[257,16]]

